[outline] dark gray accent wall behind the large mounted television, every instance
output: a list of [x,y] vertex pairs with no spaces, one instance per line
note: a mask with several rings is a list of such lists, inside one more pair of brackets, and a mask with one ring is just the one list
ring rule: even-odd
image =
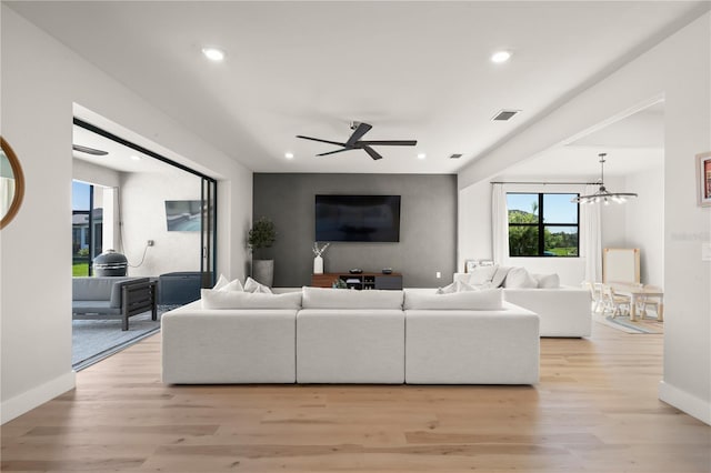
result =
[[[274,286],[309,285],[313,272],[316,194],[401,195],[400,242],[333,242],[326,272],[392,268],[405,288],[452,282],[457,259],[455,174],[253,174],[253,217],[277,227],[277,242],[258,254],[274,260]],[[441,272],[441,279],[435,278]]]

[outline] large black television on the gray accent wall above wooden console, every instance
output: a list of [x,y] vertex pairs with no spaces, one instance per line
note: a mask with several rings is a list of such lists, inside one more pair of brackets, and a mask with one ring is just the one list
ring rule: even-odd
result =
[[316,241],[400,241],[400,195],[317,195]]

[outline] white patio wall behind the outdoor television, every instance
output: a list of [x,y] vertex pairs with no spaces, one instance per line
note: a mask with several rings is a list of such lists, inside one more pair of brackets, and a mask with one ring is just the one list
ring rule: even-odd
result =
[[[121,180],[121,250],[129,274],[157,276],[172,271],[200,271],[200,232],[169,232],[167,200],[200,200],[202,179],[179,169],[160,174],[123,173]],[[146,242],[154,245],[146,249]],[[138,265],[146,250],[143,263]]]

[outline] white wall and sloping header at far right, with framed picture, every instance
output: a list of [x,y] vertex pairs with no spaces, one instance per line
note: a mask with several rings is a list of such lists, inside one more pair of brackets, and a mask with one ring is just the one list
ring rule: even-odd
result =
[[[664,98],[664,375],[660,399],[711,423],[711,209],[694,154],[711,149],[711,14],[587,89],[459,174],[460,189]],[[465,204],[465,203],[464,203]],[[462,204],[460,203],[460,207]],[[467,213],[467,210],[462,210]],[[460,235],[460,241],[464,235]]]

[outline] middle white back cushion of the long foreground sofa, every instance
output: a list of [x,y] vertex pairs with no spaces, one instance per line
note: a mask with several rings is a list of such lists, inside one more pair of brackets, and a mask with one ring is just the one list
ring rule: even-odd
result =
[[400,309],[402,291],[303,288],[303,309]]

